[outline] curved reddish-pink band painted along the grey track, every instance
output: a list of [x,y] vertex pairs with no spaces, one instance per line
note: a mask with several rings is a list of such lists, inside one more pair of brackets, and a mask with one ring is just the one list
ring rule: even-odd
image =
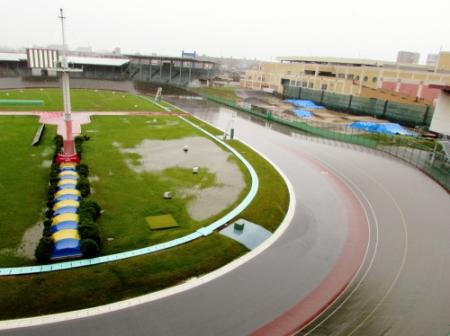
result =
[[340,178],[309,156],[298,150],[287,150],[301,157],[313,168],[322,172],[328,182],[341,196],[348,218],[348,234],[336,264],[318,286],[300,300],[295,306],[284,312],[272,322],[262,326],[252,335],[292,335],[305,328],[318,317],[350,284],[362,263],[369,243],[369,226],[364,209]]

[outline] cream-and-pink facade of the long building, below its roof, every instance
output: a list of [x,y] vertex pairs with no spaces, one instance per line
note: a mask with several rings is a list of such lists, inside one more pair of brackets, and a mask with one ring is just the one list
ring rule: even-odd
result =
[[[442,66],[447,64],[446,53],[441,54]],[[450,69],[450,53],[448,53]],[[329,72],[333,76],[321,75]],[[330,65],[310,63],[262,63],[258,70],[248,70],[241,86],[251,89],[271,88],[282,92],[282,80],[292,86],[360,95],[364,87],[391,90],[409,97],[420,97],[432,103],[437,91],[426,89],[430,84],[450,84],[450,73],[430,72],[429,69],[397,69],[372,66]],[[306,84],[306,86],[304,85]],[[419,87],[422,87],[421,89]]]

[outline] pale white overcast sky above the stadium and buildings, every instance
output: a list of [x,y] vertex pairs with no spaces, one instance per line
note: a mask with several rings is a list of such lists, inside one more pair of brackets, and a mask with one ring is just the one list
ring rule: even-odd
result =
[[450,50],[449,0],[15,0],[1,1],[0,46],[274,59],[335,56],[395,60],[398,50]]

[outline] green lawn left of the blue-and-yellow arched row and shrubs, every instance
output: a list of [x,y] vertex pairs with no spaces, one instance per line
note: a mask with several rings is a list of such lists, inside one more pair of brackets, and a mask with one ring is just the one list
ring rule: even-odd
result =
[[[47,200],[55,127],[47,126],[41,144],[31,146],[39,127],[36,117],[0,117],[0,265],[23,264],[14,257],[24,231],[42,220]],[[48,163],[48,162],[47,162]]]

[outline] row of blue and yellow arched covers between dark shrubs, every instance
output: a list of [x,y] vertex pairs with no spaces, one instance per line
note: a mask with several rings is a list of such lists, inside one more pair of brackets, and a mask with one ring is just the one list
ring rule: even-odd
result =
[[58,174],[58,191],[55,193],[51,226],[54,241],[52,259],[81,257],[77,214],[81,194],[77,189],[79,175],[74,163],[62,163]]

